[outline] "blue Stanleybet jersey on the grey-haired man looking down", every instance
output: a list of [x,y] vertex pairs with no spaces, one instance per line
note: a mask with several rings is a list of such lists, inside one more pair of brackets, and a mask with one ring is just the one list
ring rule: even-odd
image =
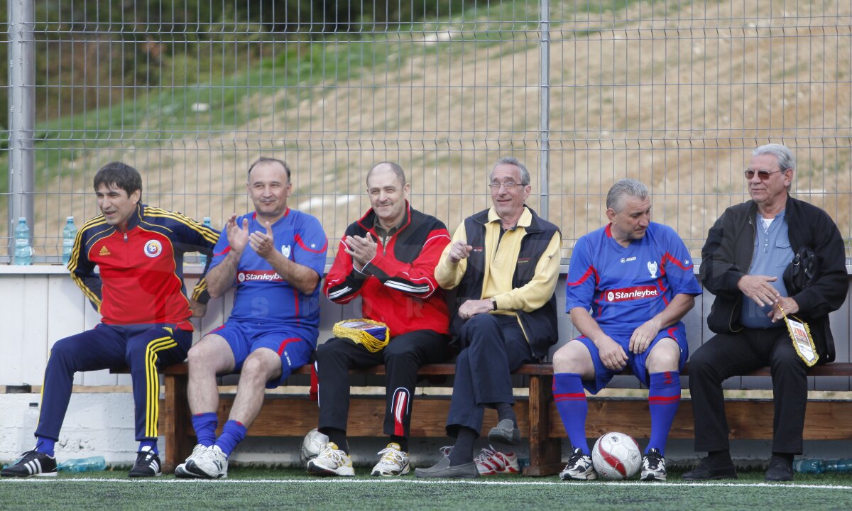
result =
[[565,310],[589,310],[602,329],[629,334],[675,295],[700,295],[686,245],[674,229],[650,222],[645,236],[621,246],[602,227],[577,240],[568,267]]

